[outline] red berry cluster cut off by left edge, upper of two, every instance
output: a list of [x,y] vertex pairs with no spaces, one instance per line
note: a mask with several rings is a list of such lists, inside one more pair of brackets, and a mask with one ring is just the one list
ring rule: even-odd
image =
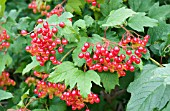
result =
[[7,42],[7,40],[10,39],[10,36],[7,34],[6,30],[2,31],[2,34],[0,34],[0,50],[3,50],[4,48],[9,48],[10,43]]

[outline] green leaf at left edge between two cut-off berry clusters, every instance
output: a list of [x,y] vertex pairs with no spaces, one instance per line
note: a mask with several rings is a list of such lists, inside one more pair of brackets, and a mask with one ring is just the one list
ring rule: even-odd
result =
[[11,56],[7,54],[0,53],[0,75],[2,71],[4,71],[5,66],[9,66],[12,63],[12,58]]

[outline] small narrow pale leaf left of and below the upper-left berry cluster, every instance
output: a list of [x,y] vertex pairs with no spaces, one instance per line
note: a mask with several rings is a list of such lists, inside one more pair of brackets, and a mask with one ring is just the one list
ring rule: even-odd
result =
[[24,75],[25,73],[29,72],[31,69],[39,65],[39,62],[36,60],[35,56],[31,57],[31,59],[32,62],[24,68],[24,70],[22,71],[22,75]]

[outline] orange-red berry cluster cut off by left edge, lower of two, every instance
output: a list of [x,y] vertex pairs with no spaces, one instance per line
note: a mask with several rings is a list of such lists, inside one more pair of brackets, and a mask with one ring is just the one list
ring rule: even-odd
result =
[[6,86],[15,86],[15,81],[9,78],[10,74],[8,72],[3,71],[0,75],[0,87],[3,87],[6,90]]

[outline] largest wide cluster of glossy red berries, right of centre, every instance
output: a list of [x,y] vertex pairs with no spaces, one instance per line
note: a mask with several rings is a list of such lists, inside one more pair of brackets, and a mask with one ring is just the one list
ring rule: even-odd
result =
[[[94,47],[93,44],[85,43],[81,49],[82,52],[79,54],[79,58],[86,60],[86,64],[90,70],[97,70],[98,72],[109,70],[110,72],[117,71],[119,76],[125,76],[125,71],[129,70],[133,72],[135,70],[133,63],[139,64],[142,53],[145,54],[147,52],[145,46],[148,39],[148,35],[146,35],[143,40],[135,37],[127,37],[126,40],[123,40],[119,45],[114,47],[112,47],[112,43],[106,39],[104,39],[104,45],[97,43],[96,47]],[[87,52],[90,46],[93,47],[93,53],[91,54]],[[135,50],[134,54],[132,54],[132,50]]]

